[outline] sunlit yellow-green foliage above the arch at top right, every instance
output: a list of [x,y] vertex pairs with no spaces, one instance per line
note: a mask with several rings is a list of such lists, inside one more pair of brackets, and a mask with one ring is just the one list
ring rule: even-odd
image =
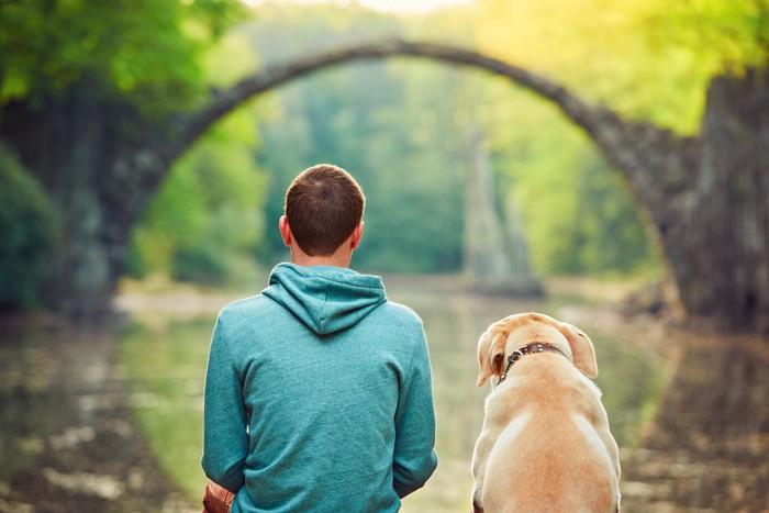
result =
[[769,57],[767,0],[479,0],[479,48],[621,113],[699,129],[711,78]]

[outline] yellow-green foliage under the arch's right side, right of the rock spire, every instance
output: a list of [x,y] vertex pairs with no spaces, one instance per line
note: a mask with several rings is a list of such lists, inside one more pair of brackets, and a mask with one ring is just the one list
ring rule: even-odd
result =
[[601,275],[654,267],[657,255],[621,175],[553,107],[491,86],[503,107],[479,115],[497,148],[502,194],[523,212],[534,268]]

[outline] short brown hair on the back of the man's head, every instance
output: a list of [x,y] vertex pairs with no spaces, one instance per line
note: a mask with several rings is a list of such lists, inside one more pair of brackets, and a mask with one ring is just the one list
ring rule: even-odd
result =
[[341,167],[319,164],[302,171],[286,192],[291,234],[310,256],[332,255],[364,216],[366,198]]

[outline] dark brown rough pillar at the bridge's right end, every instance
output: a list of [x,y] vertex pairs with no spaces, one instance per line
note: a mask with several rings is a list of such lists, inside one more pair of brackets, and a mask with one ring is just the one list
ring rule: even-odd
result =
[[689,237],[670,253],[689,313],[769,333],[769,75],[720,77],[707,92]]

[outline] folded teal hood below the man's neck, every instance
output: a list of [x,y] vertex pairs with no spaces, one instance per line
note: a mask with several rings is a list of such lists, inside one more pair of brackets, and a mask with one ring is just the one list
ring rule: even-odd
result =
[[278,264],[263,294],[319,335],[353,326],[387,301],[378,276],[359,275],[343,267],[294,264]]

